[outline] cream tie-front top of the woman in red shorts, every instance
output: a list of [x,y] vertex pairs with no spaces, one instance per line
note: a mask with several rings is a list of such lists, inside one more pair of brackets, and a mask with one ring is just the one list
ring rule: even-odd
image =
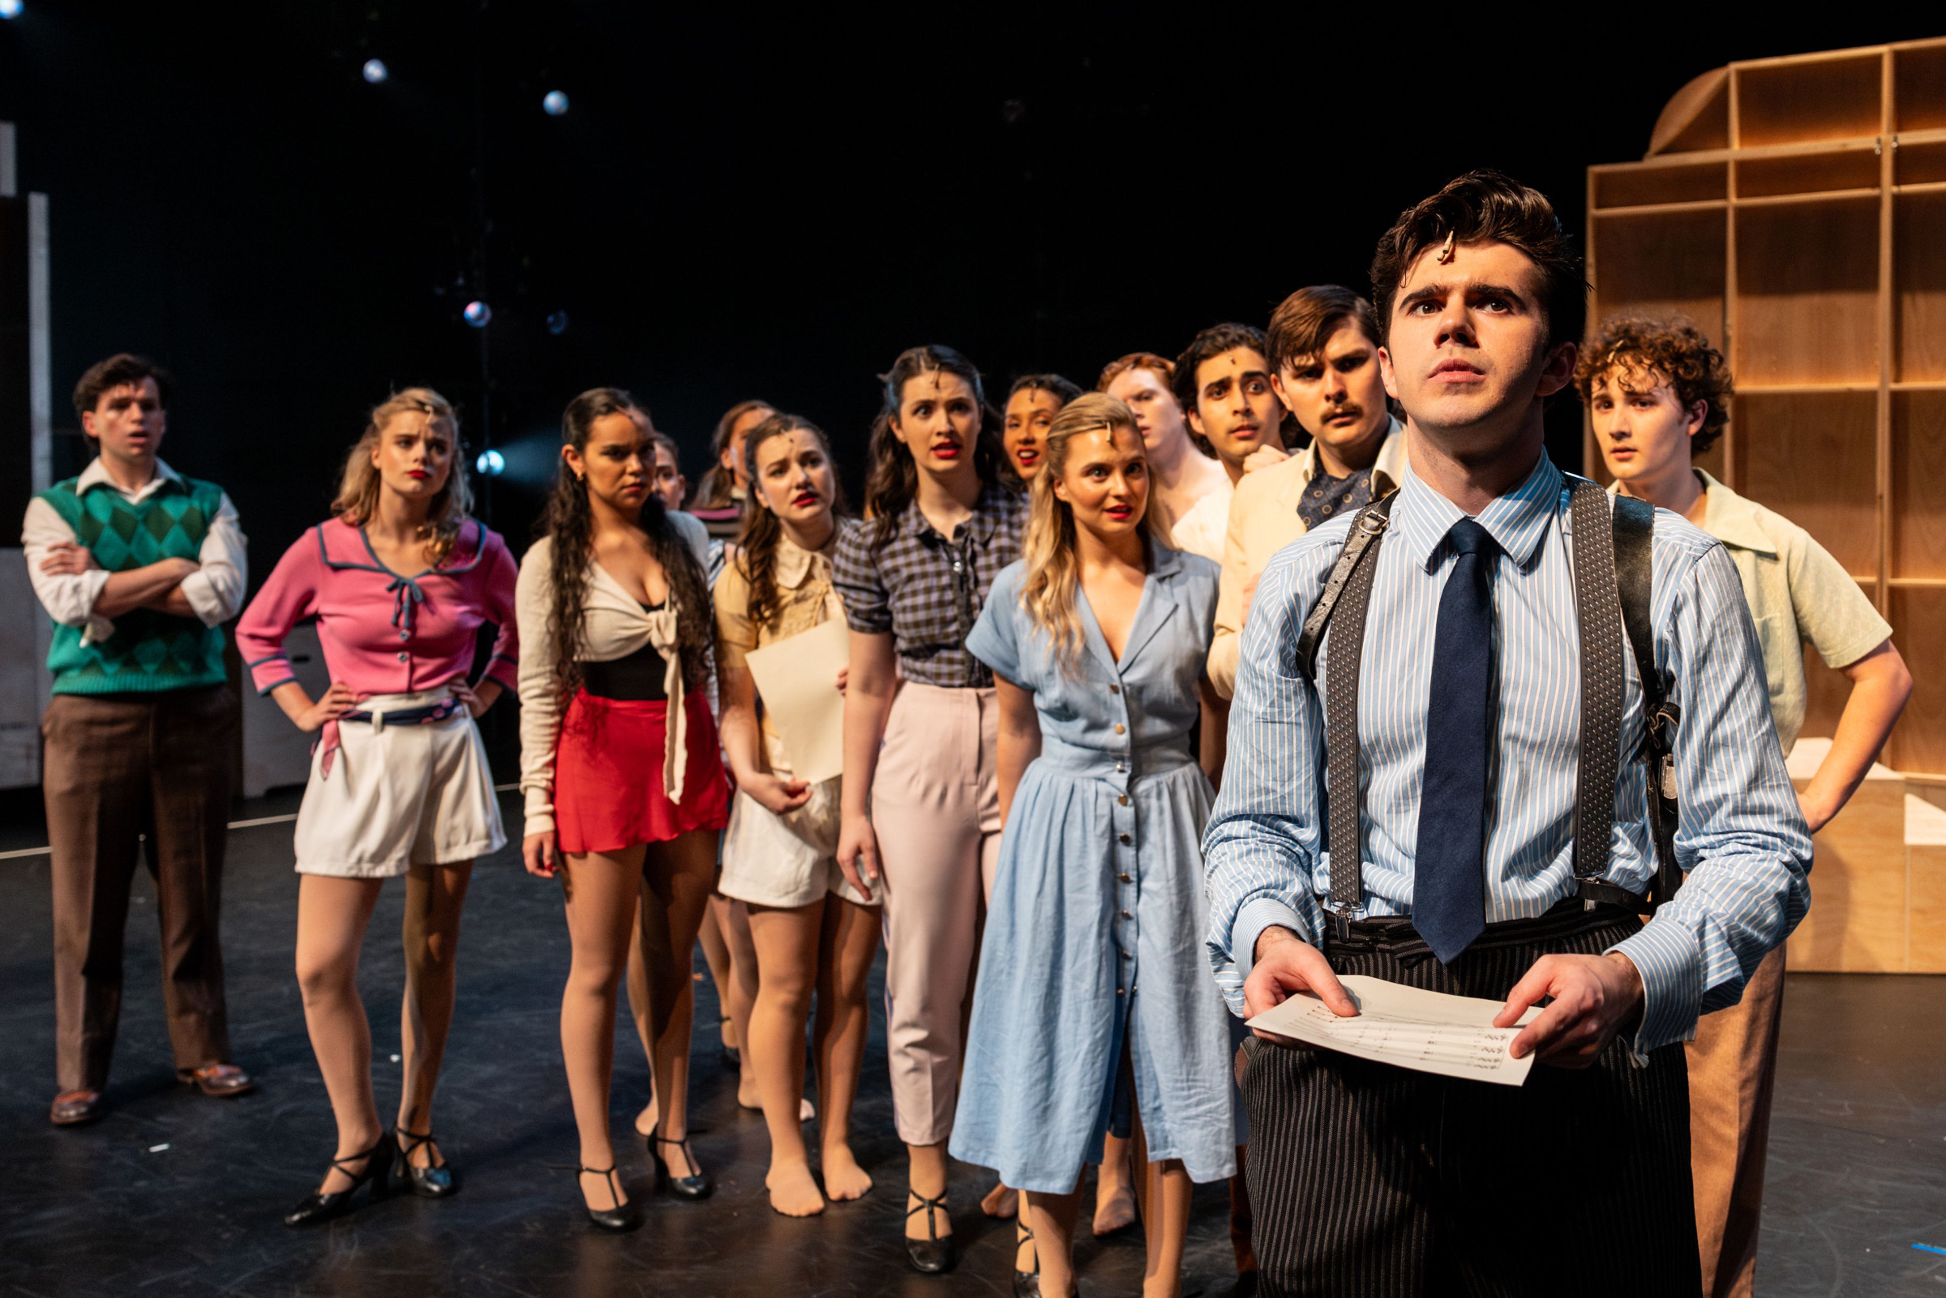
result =
[[[693,543],[689,529],[701,525],[687,514],[671,514],[683,539]],[[689,527],[683,527],[689,523]],[[525,833],[549,833],[555,827],[555,741],[560,736],[560,697],[555,693],[555,664],[559,648],[547,631],[547,613],[555,601],[553,539],[541,537],[520,560],[520,582],[514,586],[514,613],[520,623],[520,792],[525,800]],[[669,697],[669,720],[662,757],[662,788],[669,802],[681,802],[683,773],[689,765],[689,724],[683,706],[683,664],[677,652],[675,592],[660,609],[642,607],[621,582],[597,564],[588,564],[588,595],[584,607],[584,662],[613,662],[627,658],[644,644],[654,644],[667,664],[662,679]],[[529,638],[531,636],[531,638]]]

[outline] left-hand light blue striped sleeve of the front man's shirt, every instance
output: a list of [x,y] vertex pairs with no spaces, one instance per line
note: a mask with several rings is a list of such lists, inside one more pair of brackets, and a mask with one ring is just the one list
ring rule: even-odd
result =
[[[1321,938],[1314,895],[1323,808],[1323,712],[1298,671],[1298,634],[1321,586],[1319,545],[1294,545],[1263,570],[1242,634],[1222,792],[1203,835],[1210,965],[1243,1014],[1257,938],[1277,924]],[[1329,564],[1337,547],[1325,553]]]

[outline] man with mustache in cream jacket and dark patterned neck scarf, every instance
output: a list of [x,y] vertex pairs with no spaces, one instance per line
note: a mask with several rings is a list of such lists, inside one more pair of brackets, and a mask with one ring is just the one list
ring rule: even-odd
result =
[[1236,485],[1208,662],[1210,685],[1226,699],[1263,564],[1312,527],[1397,490],[1405,465],[1370,302],[1337,284],[1300,288],[1271,313],[1265,343],[1277,370],[1271,387],[1312,444]]

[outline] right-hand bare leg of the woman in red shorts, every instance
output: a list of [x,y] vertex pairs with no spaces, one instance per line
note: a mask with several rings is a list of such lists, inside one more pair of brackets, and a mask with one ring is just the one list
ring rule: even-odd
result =
[[[640,876],[642,963],[648,965],[648,1031],[662,1103],[656,1135],[681,1140],[689,1135],[689,1028],[697,989],[689,977],[697,928],[716,882],[716,831],[693,829],[667,843],[648,845]],[[695,1175],[699,1168],[675,1144],[660,1144],[669,1175]]]

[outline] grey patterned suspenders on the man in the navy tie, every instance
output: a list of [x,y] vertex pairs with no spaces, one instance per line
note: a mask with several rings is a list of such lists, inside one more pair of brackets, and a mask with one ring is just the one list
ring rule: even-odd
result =
[[[1676,761],[1674,730],[1679,708],[1664,697],[1656,671],[1648,607],[1652,590],[1652,537],[1656,510],[1629,496],[1609,498],[1588,479],[1568,475],[1568,510],[1574,523],[1574,613],[1580,625],[1580,755],[1574,798],[1574,880],[1582,905],[1613,903],[1654,909],[1681,885],[1676,864]],[[1366,609],[1372,603],[1376,551],[1391,522],[1395,494],[1358,510],[1345,549],[1325,580],[1317,603],[1298,634],[1298,669],[1315,685],[1317,642],[1337,617],[1337,634],[1325,648],[1325,845],[1354,845],[1349,860],[1331,860],[1331,905],[1339,936],[1362,913],[1364,864],[1360,819],[1364,790],[1358,780],[1358,671],[1364,658]],[[1621,640],[1627,631],[1642,679],[1644,745],[1648,765],[1648,821],[1656,839],[1656,882],[1648,899],[1607,883],[1609,839],[1615,829],[1615,765],[1627,675]]]

